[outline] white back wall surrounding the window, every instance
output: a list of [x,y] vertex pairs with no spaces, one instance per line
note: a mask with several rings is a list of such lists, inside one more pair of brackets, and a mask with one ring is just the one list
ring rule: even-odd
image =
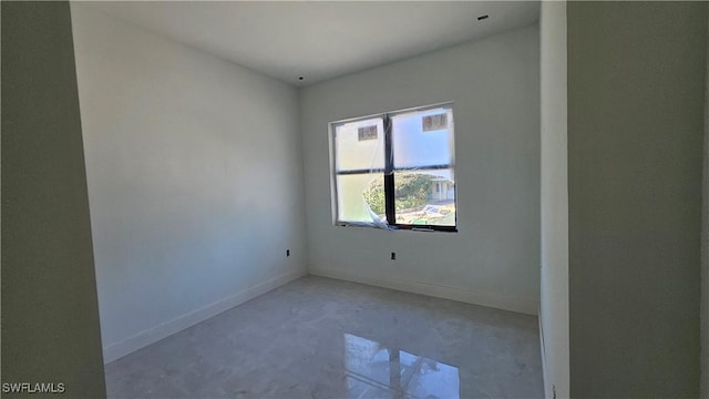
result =
[[[300,91],[311,274],[537,313],[538,40],[533,25]],[[445,101],[459,233],[333,226],[328,123]]]

